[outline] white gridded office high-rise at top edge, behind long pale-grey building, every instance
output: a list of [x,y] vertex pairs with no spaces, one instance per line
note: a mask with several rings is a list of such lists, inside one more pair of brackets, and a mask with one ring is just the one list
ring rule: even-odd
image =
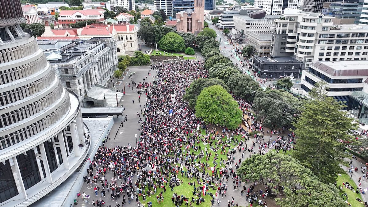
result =
[[281,15],[285,8],[298,8],[298,0],[255,0],[254,6],[266,11],[266,15]]

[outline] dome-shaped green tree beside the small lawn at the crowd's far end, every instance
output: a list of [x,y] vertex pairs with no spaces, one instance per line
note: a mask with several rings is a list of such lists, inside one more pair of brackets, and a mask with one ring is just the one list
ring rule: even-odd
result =
[[158,42],[160,49],[165,51],[184,52],[184,39],[175,32],[169,32]]

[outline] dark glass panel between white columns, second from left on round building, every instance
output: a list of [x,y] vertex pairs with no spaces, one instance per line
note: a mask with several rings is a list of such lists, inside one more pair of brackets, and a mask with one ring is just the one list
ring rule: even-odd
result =
[[40,171],[33,150],[28,150],[26,155],[17,155],[19,169],[21,171],[24,188],[27,190],[41,181]]

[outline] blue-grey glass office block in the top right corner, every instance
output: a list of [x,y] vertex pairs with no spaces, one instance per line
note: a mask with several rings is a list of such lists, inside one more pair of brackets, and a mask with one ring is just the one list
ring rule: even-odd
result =
[[360,13],[358,13],[358,2],[329,2],[324,3],[322,14],[332,19],[333,24],[358,24]]

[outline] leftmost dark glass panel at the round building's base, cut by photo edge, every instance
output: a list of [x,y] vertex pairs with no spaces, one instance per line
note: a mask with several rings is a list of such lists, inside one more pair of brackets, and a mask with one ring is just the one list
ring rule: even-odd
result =
[[0,203],[11,199],[18,194],[17,185],[15,185],[13,173],[9,161],[0,162]]

